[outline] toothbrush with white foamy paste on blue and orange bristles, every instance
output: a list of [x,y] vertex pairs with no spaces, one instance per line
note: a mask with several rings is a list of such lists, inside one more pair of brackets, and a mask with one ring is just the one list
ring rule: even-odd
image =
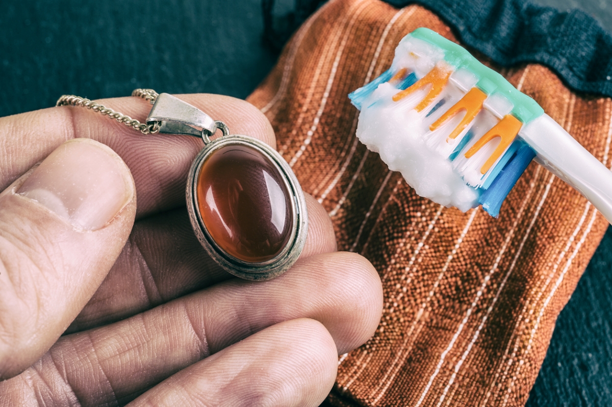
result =
[[612,172],[535,100],[430,29],[406,35],[389,70],[349,98],[359,140],[421,196],[498,217],[535,159],[612,222]]

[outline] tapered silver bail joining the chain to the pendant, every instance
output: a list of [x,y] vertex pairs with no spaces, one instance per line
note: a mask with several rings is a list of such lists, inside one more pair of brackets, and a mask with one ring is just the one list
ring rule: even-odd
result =
[[207,130],[211,134],[217,131],[217,124],[211,116],[167,93],[157,96],[147,117],[147,123],[149,122],[161,122],[159,132],[165,134],[201,137],[202,131],[194,129],[193,126]]

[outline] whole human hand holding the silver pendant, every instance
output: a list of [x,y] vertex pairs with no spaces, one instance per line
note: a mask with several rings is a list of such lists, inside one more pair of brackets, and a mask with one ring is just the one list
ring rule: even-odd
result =
[[[244,101],[181,99],[275,144]],[[151,108],[102,103],[140,120]],[[191,229],[184,189],[200,140],[144,136],[83,108],[2,118],[0,134],[0,405],[318,405],[337,354],[376,329],[378,274],[335,252],[310,196],[297,263],[249,282]]]

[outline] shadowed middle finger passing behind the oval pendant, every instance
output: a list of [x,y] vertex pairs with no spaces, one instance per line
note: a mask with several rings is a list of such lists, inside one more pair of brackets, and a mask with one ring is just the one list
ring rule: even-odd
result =
[[[327,212],[310,195],[308,236],[300,258],[336,249]],[[233,276],[219,267],[193,234],[185,209],[135,223],[102,285],[67,333],[119,321]]]

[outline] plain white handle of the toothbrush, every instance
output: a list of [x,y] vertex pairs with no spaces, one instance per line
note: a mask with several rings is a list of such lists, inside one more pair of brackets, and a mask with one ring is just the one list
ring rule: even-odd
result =
[[518,135],[534,149],[537,162],[572,185],[612,223],[612,171],[548,114],[523,126]]

